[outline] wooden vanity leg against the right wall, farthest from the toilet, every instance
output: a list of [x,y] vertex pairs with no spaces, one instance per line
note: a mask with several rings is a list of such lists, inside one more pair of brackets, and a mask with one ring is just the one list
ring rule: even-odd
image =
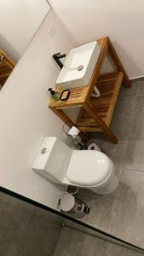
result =
[[118,71],[122,71],[124,74],[124,78],[123,78],[124,86],[127,88],[130,88],[131,87],[130,79],[128,78],[128,75],[125,72],[124,67],[123,67],[121,61],[119,60],[118,55],[117,55],[117,53],[112,45],[112,42],[109,38],[107,39],[107,43],[108,43],[108,53],[112,57],[112,61],[118,68]]

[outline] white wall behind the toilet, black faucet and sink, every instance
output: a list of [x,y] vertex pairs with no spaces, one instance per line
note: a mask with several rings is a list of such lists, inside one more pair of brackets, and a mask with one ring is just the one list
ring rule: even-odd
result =
[[47,90],[60,72],[51,56],[72,47],[50,10],[0,93],[0,185],[49,207],[56,207],[64,188],[32,171],[32,162],[43,137],[66,140],[62,122],[48,108]]

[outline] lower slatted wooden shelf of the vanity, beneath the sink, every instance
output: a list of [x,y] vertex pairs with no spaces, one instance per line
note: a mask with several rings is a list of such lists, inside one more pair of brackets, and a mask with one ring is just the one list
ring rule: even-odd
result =
[[[99,76],[96,86],[100,90],[101,96],[99,98],[91,97],[90,99],[94,112],[103,119],[107,126],[111,123],[122,80],[123,73],[121,72]],[[76,124],[81,131],[101,131],[100,126],[95,124],[95,120],[90,117],[84,108],[81,108]]]

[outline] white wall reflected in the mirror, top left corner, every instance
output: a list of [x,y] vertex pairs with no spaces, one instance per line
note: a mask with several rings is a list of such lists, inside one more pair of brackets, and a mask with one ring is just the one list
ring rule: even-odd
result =
[[46,0],[0,0],[0,47],[19,60],[49,11]]

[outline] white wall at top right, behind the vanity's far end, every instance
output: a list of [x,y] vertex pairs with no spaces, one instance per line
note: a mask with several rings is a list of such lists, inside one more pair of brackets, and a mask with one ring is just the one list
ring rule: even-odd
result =
[[144,76],[143,0],[49,0],[78,44],[109,36],[130,78]]

